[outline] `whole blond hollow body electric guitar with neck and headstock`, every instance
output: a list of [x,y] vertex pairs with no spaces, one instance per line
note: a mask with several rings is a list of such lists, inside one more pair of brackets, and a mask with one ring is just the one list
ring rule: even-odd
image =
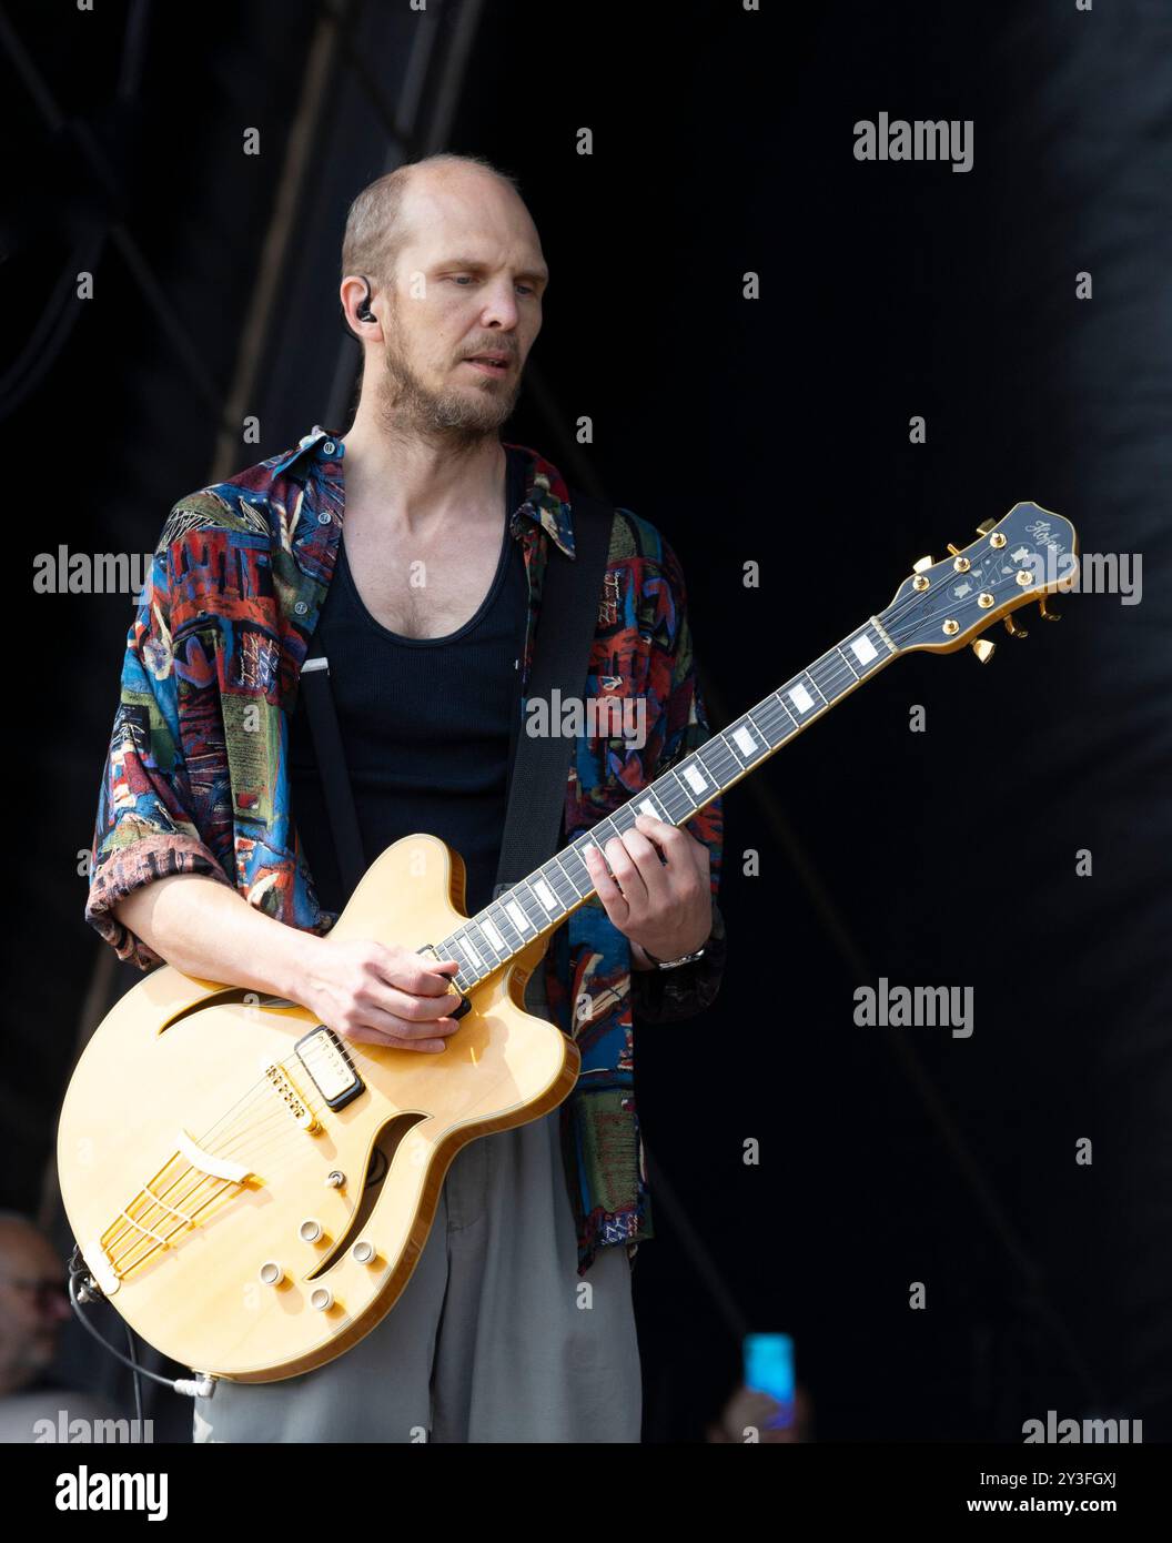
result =
[[[638,812],[685,824],[894,657],[948,653],[1069,588],[1075,531],[1016,505],[964,551],[924,559],[877,616],[475,917],[464,867],[404,836],[333,935],[460,960],[443,1055],[344,1040],[290,1001],[162,966],[99,1026],[71,1079],[57,1160],[86,1284],[196,1372],[271,1383],[384,1318],[467,1142],[567,1097],[578,1049],[523,1009],[549,935],[594,893],[581,853]],[[992,643],[975,647],[982,657]]]

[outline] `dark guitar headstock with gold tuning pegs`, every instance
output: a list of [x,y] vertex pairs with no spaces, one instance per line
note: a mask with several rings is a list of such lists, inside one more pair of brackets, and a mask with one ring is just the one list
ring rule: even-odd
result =
[[[1073,525],[1036,503],[1015,503],[1004,520],[988,520],[978,531],[976,542],[962,549],[950,545],[951,555],[938,563],[922,557],[879,613],[898,651],[947,654],[1001,620],[1012,637],[1024,637],[1012,613],[1032,600],[1047,620],[1058,619],[1046,599],[1070,589],[1078,577]],[[984,662],[995,645],[978,642],[973,648]]]

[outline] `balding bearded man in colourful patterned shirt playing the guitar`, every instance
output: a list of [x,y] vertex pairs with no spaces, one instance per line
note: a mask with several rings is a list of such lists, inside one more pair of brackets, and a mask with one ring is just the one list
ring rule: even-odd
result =
[[[365,188],[342,270],[364,346],[349,434],[318,429],[180,500],[159,542],[88,918],[140,966],[163,958],[302,1003],[356,1043],[430,1055],[458,1029],[458,961],[330,937],[349,895],[304,713],[285,713],[278,685],[316,630],[365,861],[438,835],[464,859],[469,915],[489,904],[541,574],[574,555],[557,468],[500,438],[549,270],[510,179],[458,156]],[[706,738],[679,565],[629,511],[615,512],[591,671],[658,719],[638,747],[578,739],[569,835]],[[571,759],[567,745],[567,773]],[[638,1441],[631,1267],[651,1228],[631,1004],[660,1021],[716,994],[716,805],[697,827],[703,839],[640,816],[606,863],[591,849],[597,900],[529,980],[529,1011],[566,1032],[571,992],[592,1008],[578,1097],[466,1145],[378,1329],[304,1376],[222,1381],[197,1404],[197,1441]]]

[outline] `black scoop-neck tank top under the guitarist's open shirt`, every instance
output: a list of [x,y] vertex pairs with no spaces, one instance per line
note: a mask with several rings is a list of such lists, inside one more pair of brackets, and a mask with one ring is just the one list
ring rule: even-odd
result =
[[[358,594],[345,540],[318,626],[330,660],[345,762],[367,867],[399,836],[440,836],[464,859],[467,910],[492,900],[509,775],[509,724],[518,710],[529,586],[509,535],[524,498],[524,457],[506,451],[501,555],[477,614],[447,637],[401,637]],[[325,910],[342,889],[304,696],[290,725],[293,821]]]

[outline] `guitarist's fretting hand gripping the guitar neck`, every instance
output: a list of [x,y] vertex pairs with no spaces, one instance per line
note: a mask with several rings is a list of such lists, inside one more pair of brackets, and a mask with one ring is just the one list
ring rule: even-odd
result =
[[583,859],[603,910],[632,944],[635,969],[652,969],[646,954],[674,960],[703,947],[712,930],[711,855],[703,841],[637,815],[634,829],[612,836],[603,850],[606,863],[594,846],[586,846]]

